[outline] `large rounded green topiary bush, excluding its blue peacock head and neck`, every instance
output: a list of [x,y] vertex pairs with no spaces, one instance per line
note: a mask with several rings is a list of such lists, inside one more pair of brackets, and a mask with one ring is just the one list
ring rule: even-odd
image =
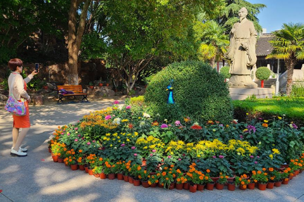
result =
[[[175,104],[167,104],[167,86],[173,79]],[[228,123],[233,107],[224,78],[210,65],[186,61],[173,63],[158,72],[150,81],[144,95],[145,103],[160,120],[182,120],[190,117],[199,122],[208,120]]]

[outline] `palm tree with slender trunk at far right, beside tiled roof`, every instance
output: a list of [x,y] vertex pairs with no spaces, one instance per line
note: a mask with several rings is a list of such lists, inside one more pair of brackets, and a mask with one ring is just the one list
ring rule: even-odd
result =
[[282,29],[274,31],[274,40],[269,41],[274,47],[273,52],[266,59],[283,59],[287,66],[286,94],[292,89],[293,68],[298,60],[304,59],[304,24],[283,24]]

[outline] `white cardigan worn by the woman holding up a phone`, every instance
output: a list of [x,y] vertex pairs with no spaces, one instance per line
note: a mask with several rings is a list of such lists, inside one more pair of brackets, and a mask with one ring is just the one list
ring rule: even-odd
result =
[[[17,72],[14,72],[17,73]],[[20,100],[21,97],[25,98],[26,100],[29,99],[29,95],[27,94],[27,92],[24,90],[24,81],[25,83],[28,83],[32,78],[33,75],[29,74],[24,80],[22,78],[22,76],[20,75],[20,73],[17,74],[13,74],[11,73],[11,75],[9,76],[8,79],[8,83],[9,83],[9,89],[11,90],[11,85],[12,85],[12,81],[13,78],[15,77],[15,81],[13,84],[13,95],[17,100]]]

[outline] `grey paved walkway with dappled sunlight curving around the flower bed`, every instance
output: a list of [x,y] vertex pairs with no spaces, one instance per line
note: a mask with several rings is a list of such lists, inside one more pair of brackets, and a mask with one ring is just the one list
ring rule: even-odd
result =
[[30,107],[32,127],[25,138],[28,157],[10,156],[12,118],[0,110],[0,201],[303,201],[304,173],[273,190],[198,191],[136,187],[119,180],[101,180],[84,171],[53,163],[47,141],[57,126],[103,109],[113,100]]

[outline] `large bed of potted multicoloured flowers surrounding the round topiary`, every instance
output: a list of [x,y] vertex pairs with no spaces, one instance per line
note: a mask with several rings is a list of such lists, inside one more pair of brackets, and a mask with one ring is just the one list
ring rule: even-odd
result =
[[129,182],[141,180],[144,187],[189,183],[192,192],[213,181],[218,188],[242,189],[252,182],[286,183],[303,168],[304,128],[284,117],[227,125],[185,117],[170,123],[151,117],[141,104],[118,104],[58,127],[49,142],[53,156],[67,166],[87,166],[96,177],[130,176]]

